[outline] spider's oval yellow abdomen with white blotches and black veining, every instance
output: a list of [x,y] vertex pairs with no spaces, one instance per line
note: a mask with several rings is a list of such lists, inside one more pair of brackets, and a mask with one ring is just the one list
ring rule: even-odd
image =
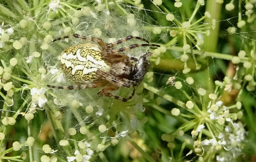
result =
[[59,60],[63,72],[78,83],[94,82],[99,79],[97,70],[108,73],[111,69],[111,64],[101,57],[101,48],[92,43],[64,49]]

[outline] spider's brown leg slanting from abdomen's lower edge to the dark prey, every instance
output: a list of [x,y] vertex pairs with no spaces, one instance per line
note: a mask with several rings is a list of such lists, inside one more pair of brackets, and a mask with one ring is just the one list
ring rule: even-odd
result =
[[97,70],[96,74],[102,78],[107,80],[109,83],[115,85],[115,86],[124,86],[125,88],[129,88],[132,84],[130,84],[129,82],[125,82],[123,80],[117,79],[114,75],[106,73],[102,70]]

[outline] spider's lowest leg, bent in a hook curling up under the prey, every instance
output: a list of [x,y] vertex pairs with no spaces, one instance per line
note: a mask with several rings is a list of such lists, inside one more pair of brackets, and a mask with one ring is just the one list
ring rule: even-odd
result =
[[107,96],[107,97],[118,99],[118,100],[123,101],[123,102],[127,102],[128,100],[132,99],[132,97],[134,96],[134,93],[135,93],[135,89],[133,88],[132,94],[130,95],[130,97],[128,97],[126,99],[124,97],[121,97],[121,96],[118,96],[118,95],[115,95],[115,94],[111,93],[111,91],[115,91],[115,90],[118,90],[118,87],[113,85],[113,84],[110,84],[110,85],[102,88],[100,90],[100,92],[98,92],[98,95],[99,96],[104,95],[104,96]]

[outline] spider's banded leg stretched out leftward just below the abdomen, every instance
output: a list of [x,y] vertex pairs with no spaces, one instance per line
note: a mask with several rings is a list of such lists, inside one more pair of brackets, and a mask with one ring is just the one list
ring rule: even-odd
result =
[[91,89],[91,88],[97,88],[102,87],[104,85],[107,85],[108,82],[104,82],[104,80],[100,80],[96,83],[90,83],[90,84],[84,84],[84,85],[69,85],[69,86],[54,86],[54,85],[47,85],[50,88],[57,88],[57,89]]

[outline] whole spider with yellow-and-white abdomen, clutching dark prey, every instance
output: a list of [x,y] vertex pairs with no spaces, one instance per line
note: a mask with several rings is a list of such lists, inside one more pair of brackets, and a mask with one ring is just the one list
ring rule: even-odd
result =
[[[132,99],[135,92],[134,86],[140,85],[150,67],[148,58],[152,53],[148,52],[136,59],[134,57],[129,58],[121,52],[141,46],[160,47],[156,44],[149,44],[143,38],[131,35],[108,44],[105,44],[100,38],[85,37],[78,34],[60,37],[53,40],[53,42],[71,37],[97,42],[98,45],[85,43],[64,49],[59,56],[60,66],[63,72],[76,82],[77,85],[47,86],[69,90],[105,86],[98,92],[99,96],[105,95],[123,102]],[[132,44],[128,47],[114,49],[116,45],[130,39],[138,39],[148,44]],[[121,86],[125,88],[133,87],[130,97],[124,98],[112,93],[112,91],[117,90]]]

